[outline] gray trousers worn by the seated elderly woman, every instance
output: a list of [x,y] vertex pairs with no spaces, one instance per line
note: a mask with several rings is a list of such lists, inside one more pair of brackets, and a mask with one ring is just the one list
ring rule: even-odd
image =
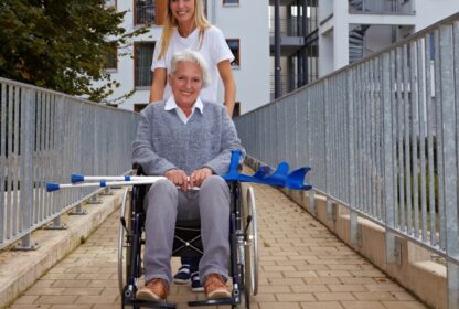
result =
[[209,177],[199,191],[183,192],[169,180],[151,185],[145,205],[145,279],[172,281],[171,255],[175,220],[201,217],[204,255],[200,277],[220,274],[228,277],[230,265],[230,189],[218,175]]

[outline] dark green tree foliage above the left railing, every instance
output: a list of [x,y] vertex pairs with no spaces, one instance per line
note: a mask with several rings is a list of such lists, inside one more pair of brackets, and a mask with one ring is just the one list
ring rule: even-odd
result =
[[[0,0],[0,76],[99,102],[118,83],[106,56],[143,32],[104,0]],[[100,87],[95,81],[105,81]]]

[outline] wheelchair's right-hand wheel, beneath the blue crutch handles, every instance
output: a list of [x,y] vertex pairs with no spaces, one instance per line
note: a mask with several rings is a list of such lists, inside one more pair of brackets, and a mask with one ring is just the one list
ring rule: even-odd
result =
[[[255,202],[254,189],[247,188],[246,203],[243,205],[244,217],[252,216],[248,223],[245,221],[244,228],[246,233],[245,242],[245,286],[247,296],[257,295],[258,292],[258,231],[257,231],[257,210]],[[248,300],[247,300],[248,301]]]

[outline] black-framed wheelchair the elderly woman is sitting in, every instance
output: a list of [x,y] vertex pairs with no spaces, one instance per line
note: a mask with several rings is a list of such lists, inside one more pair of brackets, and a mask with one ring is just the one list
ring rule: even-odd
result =
[[[139,173],[139,172],[138,172]],[[252,187],[227,182],[231,193],[230,212],[230,280],[232,297],[189,301],[189,307],[222,306],[250,308],[250,296],[258,291],[258,235],[255,195]],[[175,308],[175,303],[136,299],[142,277],[142,246],[145,245],[143,198],[148,184],[136,184],[125,190],[118,238],[118,284],[121,308]],[[178,221],[172,256],[201,256],[200,222]]]

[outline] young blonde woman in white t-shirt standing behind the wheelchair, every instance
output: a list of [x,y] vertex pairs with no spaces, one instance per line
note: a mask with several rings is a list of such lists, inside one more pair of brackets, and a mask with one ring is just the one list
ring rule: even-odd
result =
[[[224,85],[226,111],[233,115],[236,97],[231,62],[234,60],[222,31],[212,25],[204,15],[202,0],[168,0],[164,26],[158,41],[151,71],[154,72],[150,88],[150,103],[167,99],[171,95],[168,73],[172,55],[190,49],[200,52],[209,65],[210,85],[201,90],[204,102],[217,100],[218,75]],[[175,284],[186,284],[191,279],[191,289],[202,291],[198,266],[200,258],[182,257],[182,266],[173,277]]]

